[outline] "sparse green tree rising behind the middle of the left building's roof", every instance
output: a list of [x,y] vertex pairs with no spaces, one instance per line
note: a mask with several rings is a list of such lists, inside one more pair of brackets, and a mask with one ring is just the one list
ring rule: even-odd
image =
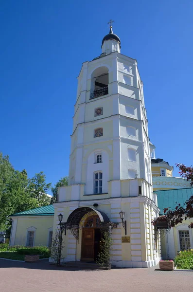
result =
[[51,203],[51,199],[47,196],[47,192],[51,188],[51,185],[52,183],[46,183],[46,176],[43,171],[35,173],[35,176],[28,180],[27,191],[31,198],[38,201],[38,207],[46,206]]

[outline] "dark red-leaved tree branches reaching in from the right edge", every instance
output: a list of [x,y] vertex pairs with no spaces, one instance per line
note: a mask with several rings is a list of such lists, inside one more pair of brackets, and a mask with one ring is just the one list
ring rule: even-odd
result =
[[[182,178],[186,179],[187,182],[190,182],[190,185],[193,185],[193,166],[186,166],[184,164],[176,164],[179,168],[179,174]],[[177,204],[174,210],[170,210],[170,208],[164,209],[164,214],[159,216],[158,219],[153,221],[153,225],[156,225],[158,221],[164,221],[168,223],[168,226],[174,227],[178,223],[182,223],[182,221],[187,218],[193,218],[193,196],[187,200],[183,206]],[[193,228],[193,222],[189,225],[189,228]]]

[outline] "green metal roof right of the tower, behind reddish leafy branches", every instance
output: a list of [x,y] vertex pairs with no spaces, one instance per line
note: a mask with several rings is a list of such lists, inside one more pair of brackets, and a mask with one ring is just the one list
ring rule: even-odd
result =
[[160,209],[160,214],[163,214],[164,208],[169,208],[173,210],[177,204],[184,206],[185,201],[187,201],[191,196],[193,196],[193,187],[174,189],[174,190],[160,190],[154,191],[158,195],[158,208]]

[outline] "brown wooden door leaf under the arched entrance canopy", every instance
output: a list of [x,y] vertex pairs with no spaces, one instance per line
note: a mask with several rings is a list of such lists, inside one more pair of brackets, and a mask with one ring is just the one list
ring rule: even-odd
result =
[[82,260],[94,260],[94,229],[83,228]]

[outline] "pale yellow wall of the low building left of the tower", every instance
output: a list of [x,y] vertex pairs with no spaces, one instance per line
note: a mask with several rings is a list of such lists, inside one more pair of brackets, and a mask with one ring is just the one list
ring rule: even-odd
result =
[[35,227],[34,246],[48,246],[49,228],[53,227],[53,216],[18,217],[14,245],[26,245],[27,229]]

